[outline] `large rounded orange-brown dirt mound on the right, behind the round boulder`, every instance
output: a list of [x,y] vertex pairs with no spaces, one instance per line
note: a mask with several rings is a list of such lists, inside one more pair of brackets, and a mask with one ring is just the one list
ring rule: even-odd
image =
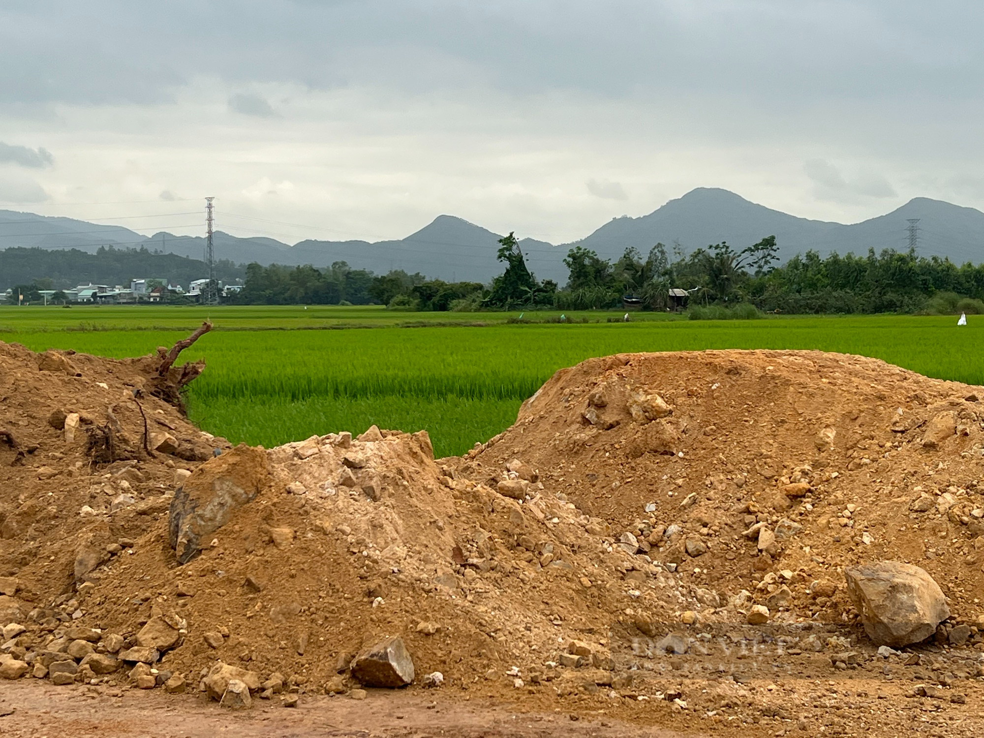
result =
[[[980,400],[981,388],[859,356],[624,354],[559,371],[460,468],[491,483],[522,454],[551,492],[616,540],[632,533],[683,582],[764,600],[789,584],[787,619],[845,620],[843,568],[894,559],[926,569],[977,621]],[[837,594],[817,597],[815,581]]]

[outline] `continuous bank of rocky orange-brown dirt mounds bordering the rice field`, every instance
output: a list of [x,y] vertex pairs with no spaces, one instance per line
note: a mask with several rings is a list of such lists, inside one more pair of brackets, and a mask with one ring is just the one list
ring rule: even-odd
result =
[[159,362],[0,343],[0,676],[343,693],[400,637],[415,685],[778,725],[823,712],[782,675],[930,681],[857,622],[843,571],[881,560],[949,599],[923,668],[984,675],[980,388],[820,352],[612,356],[435,461],[375,427],[231,448],[171,404],[201,367]]

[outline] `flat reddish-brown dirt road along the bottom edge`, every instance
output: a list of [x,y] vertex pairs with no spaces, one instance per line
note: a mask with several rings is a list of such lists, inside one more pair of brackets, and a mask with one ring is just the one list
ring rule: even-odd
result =
[[[4,714],[7,713],[7,714]],[[366,700],[313,697],[293,709],[277,702],[231,712],[191,696],[137,690],[53,687],[9,682],[0,692],[0,735],[7,738],[212,738],[253,736],[639,736],[682,734],[630,726],[618,720],[572,719],[555,713],[522,713],[419,694],[369,692]],[[693,733],[689,735],[695,735]]]

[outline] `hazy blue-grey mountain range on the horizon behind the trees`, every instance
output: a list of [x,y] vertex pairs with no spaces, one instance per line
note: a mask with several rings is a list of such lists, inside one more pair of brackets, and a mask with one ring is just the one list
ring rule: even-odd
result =
[[[845,225],[810,220],[774,211],[732,192],[699,188],[671,200],[641,217],[617,217],[590,235],[554,246],[523,239],[527,264],[540,278],[563,283],[568,249],[584,246],[602,258],[615,260],[628,247],[644,255],[656,242],[668,250],[679,245],[686,252],[727,241],[736,248],[774,235],[779,256],[786,261],[797,253],[815,250],[865,253],[869,248],[907,248],[909,218],[919,218],[919,253],[946,256],[953,262],[984,261],[984,213],[939,200],[915,198],[888,215]],[[439,215],[429,225],[396,241],[304,240],[290,246],[273,238],[239,238],[215,233],[215,258],[244,264],[311,264],[328,267],[344,261],[356,269],[386,273],[401,269],[427,277],[486,282],[502,272],[496,261],[501,236],[453,215]],[[94,252],[100,246],[145,246],[151,250],[201,259],[204,237],[175,236],[166,232],[144,235],[119,225],[100,225],[67,217],[0,211],[0,249],[16,246],[42,249],[77,248]]]

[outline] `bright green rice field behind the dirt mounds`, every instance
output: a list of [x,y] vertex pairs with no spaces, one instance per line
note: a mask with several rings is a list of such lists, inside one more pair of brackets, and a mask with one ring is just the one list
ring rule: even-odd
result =
[[[66,318],[72,310],[79,312]],[[976,316],[958,329],[955,318],[914,316],[692,322],[634,314],[608,323],[621,315],[599,312],[568,314],[598,322],[517,324],[506,321],[518,313],[461,318],[374,307],[311,308],[300,317],[296,306],[72,310],[2,308],[0,340],[137,356],[184,338],[208,315],[216,330],[182,354],[209,364],[189,389],[191,416],[230,441],[265,446],[375,423],[426,428],[439,456],[461,454],[508,427],[557,369],[623,351],[819,348],[984,384],[984,318],[978,324]],[[464,325],[446,325],[455,319]],[[346,327],[374,328],[332,330]]]

